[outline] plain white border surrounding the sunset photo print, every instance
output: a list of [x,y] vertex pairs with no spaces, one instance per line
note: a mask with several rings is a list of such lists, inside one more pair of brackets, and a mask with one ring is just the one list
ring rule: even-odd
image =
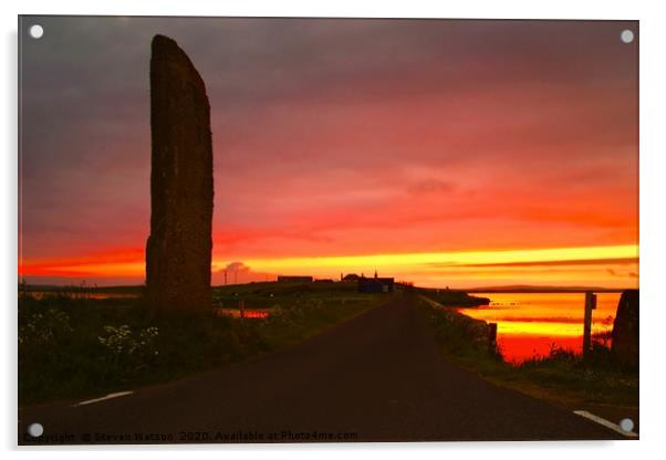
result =
[[[2,447],[14,449],[15,454],[15,286],[17,286],[17,14],[146,14],[146,15],[332,15],[332,17],[404,17],[404,18],[523,18],[523,19],[629,19],[641,20],[641,289],[642,289],[642,374],[641,374],[641,441],[616,442],[514,442],[514,443],[392,443],[392,445],[326,445],[326,446],[192,446],[192,447],[116,447],[67,451],[67,448],[53,448],[48,456],[71,458],[89,457],[91,450],[102,457],[144,456],[146,451],[159,451],[160,457],[179,458],[184,450],[218,458],[220,454],[233,457],[272,453],[278,458],[350,456],[365,458],[403,458],[406,454],[418,458],[437,458],[460,453],[493,459],[561,459],[563,456],[585,454],[604,459],[651,458],[660,448],[660,433],[664,425],[664,336],[666,325],[666,295],[659,288],[664,285],[664,272],[659,262],[666,257],[664,238],[664,130],[666,128],[666,17],[662,2],[657,1],[479,1],[427,2],[419,0],[335,0],[313,1],[223,1],[205,0],[116,0],[116,1],[31,1],[17,4],[2,2],[3,45],[1,72],[3,109],[0,112],[0,139],[4,143],[0,174],[0,206],[3,218],[2,272],[0,283],[6,302],[2,303],[4,334],[2,344],[6,353],[2,375],[2,411],[0,436]],[[111,450],[110,450],[111,449]],[[222,452],[220,452],[220,450]],[[134,451],[135,453],[132,453]],[[138,453],[136,453],[138,452]],[[29,452],[30,456],[37,452]]]

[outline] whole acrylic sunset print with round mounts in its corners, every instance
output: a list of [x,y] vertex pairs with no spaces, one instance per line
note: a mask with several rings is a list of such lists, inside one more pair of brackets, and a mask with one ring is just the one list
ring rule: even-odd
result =
[[19,443],[638,437],[638,22],[19,18]]

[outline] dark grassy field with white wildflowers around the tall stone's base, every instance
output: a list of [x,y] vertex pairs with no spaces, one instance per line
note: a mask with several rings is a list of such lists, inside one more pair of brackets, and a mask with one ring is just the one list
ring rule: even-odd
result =
[[[136,297],[98,299],[102,292]],[[269,309],[239,320],[215,309],[155,314],[141,288],[19,295],[19,406],[97,396],[173,380],[292,346],[388,300],[355,283],[250,283],[214,288],[217,306]]]

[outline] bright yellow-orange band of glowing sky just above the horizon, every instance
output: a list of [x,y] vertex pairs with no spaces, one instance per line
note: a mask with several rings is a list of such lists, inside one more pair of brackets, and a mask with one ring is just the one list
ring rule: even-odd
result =
[[[220,283],[219,275],[233,263],[215,258],[211,264],[214,284]],[[332,255],[298,258],[246,259],[243,265],[263,279],[278,274],[310,274],[315,278],[336,278],[343,273],[366,273],[378,270],[384,275],[417,285],[465,284],[509,282],[522,280],[521,284],[553,282],[555,284],[585,284],[615,286],[618,279],[607,265],[631,265],[637,270],[638,247],[636,244],[608,247],[574,247],[513,249],[495,251],[413,252],[370,255]],[[554,265],[554,266],[553,266]],[[558,271],[556,265],[566,270]],[[545,269],[545,270],[544,270]],[[591,278],[591,270],[594,275]],[[136,279],[143,282],[145,262],[141,251],[90,255],[80,259],[23,260],[19,266],[21,278],[63,279]],[[217,278],[217,279],[216,279]],[[636,276],[634,276],[636,278]],[[631,283],[635,284],[637,280]],[[246,281],[247,282],[247,281]],[[471,284],[470,284],[471,283]]]

